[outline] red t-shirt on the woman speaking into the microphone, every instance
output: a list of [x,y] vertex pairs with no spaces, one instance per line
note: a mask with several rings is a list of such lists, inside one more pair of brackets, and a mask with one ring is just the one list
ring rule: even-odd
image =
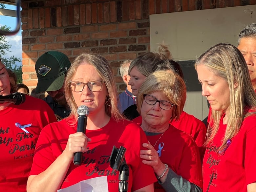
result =
[[[38,175],[46,170],[63,152],[70,134],[76,132],[76,126],[69,126],[67,119],[46,126],[38,139],[36,153],[30,175]],[[157,179],[153,168],[142,163],[140,149],[147,142],[145,133],[130,121],[116,122],[112,118],[108,124],[98,130],[86,130],[86,136],[92,139],[88,143],[89,151],[83,155],[83,162],[75,166],[71,162],[61,188],[71,186],[87,179],[107,176],[108,190],[118,191],[119,171],[110,167],[110,155],[115,145],[126,148],[125,160],[130,167],[129,191],[145,187]]]

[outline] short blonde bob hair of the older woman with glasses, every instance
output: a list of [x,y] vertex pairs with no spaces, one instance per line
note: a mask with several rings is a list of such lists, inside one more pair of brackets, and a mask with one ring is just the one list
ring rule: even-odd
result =
[[144,94],[161,92],[168,101],[173,103],[172,120],[179,120],[184,104],[186,102],[186,85],[184,80],[172,72],[156,71],[146,77],[139,88],[137,96],[137,109],[141,113],[141,107],[144,100]]

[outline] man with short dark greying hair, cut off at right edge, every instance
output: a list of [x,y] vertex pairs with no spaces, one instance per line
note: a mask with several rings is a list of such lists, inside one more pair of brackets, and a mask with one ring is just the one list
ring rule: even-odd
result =
[[239,34],[237,48],[244,55],[252,86],[256,92],[256,23],[246,25]]

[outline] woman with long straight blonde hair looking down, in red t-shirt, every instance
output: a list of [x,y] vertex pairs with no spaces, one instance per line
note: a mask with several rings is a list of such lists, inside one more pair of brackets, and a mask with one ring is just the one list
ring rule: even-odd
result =
[[210,103],[203,191],[256,191],[256,96],[242,53],[217,44],[195,63]]

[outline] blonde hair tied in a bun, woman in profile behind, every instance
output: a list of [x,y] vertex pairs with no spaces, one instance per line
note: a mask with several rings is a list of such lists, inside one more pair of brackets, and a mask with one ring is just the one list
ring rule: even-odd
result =
[[142,75],[148,76],[153,72],[153,69],[157,64],[160,63],[162,59],[169,59],[169,57],[172,55],[166,45],[160,44],[158,51],[159,53],[149,52],[139,55],[131,62],[128,74],[130,75],[132,68],[136,66]]

